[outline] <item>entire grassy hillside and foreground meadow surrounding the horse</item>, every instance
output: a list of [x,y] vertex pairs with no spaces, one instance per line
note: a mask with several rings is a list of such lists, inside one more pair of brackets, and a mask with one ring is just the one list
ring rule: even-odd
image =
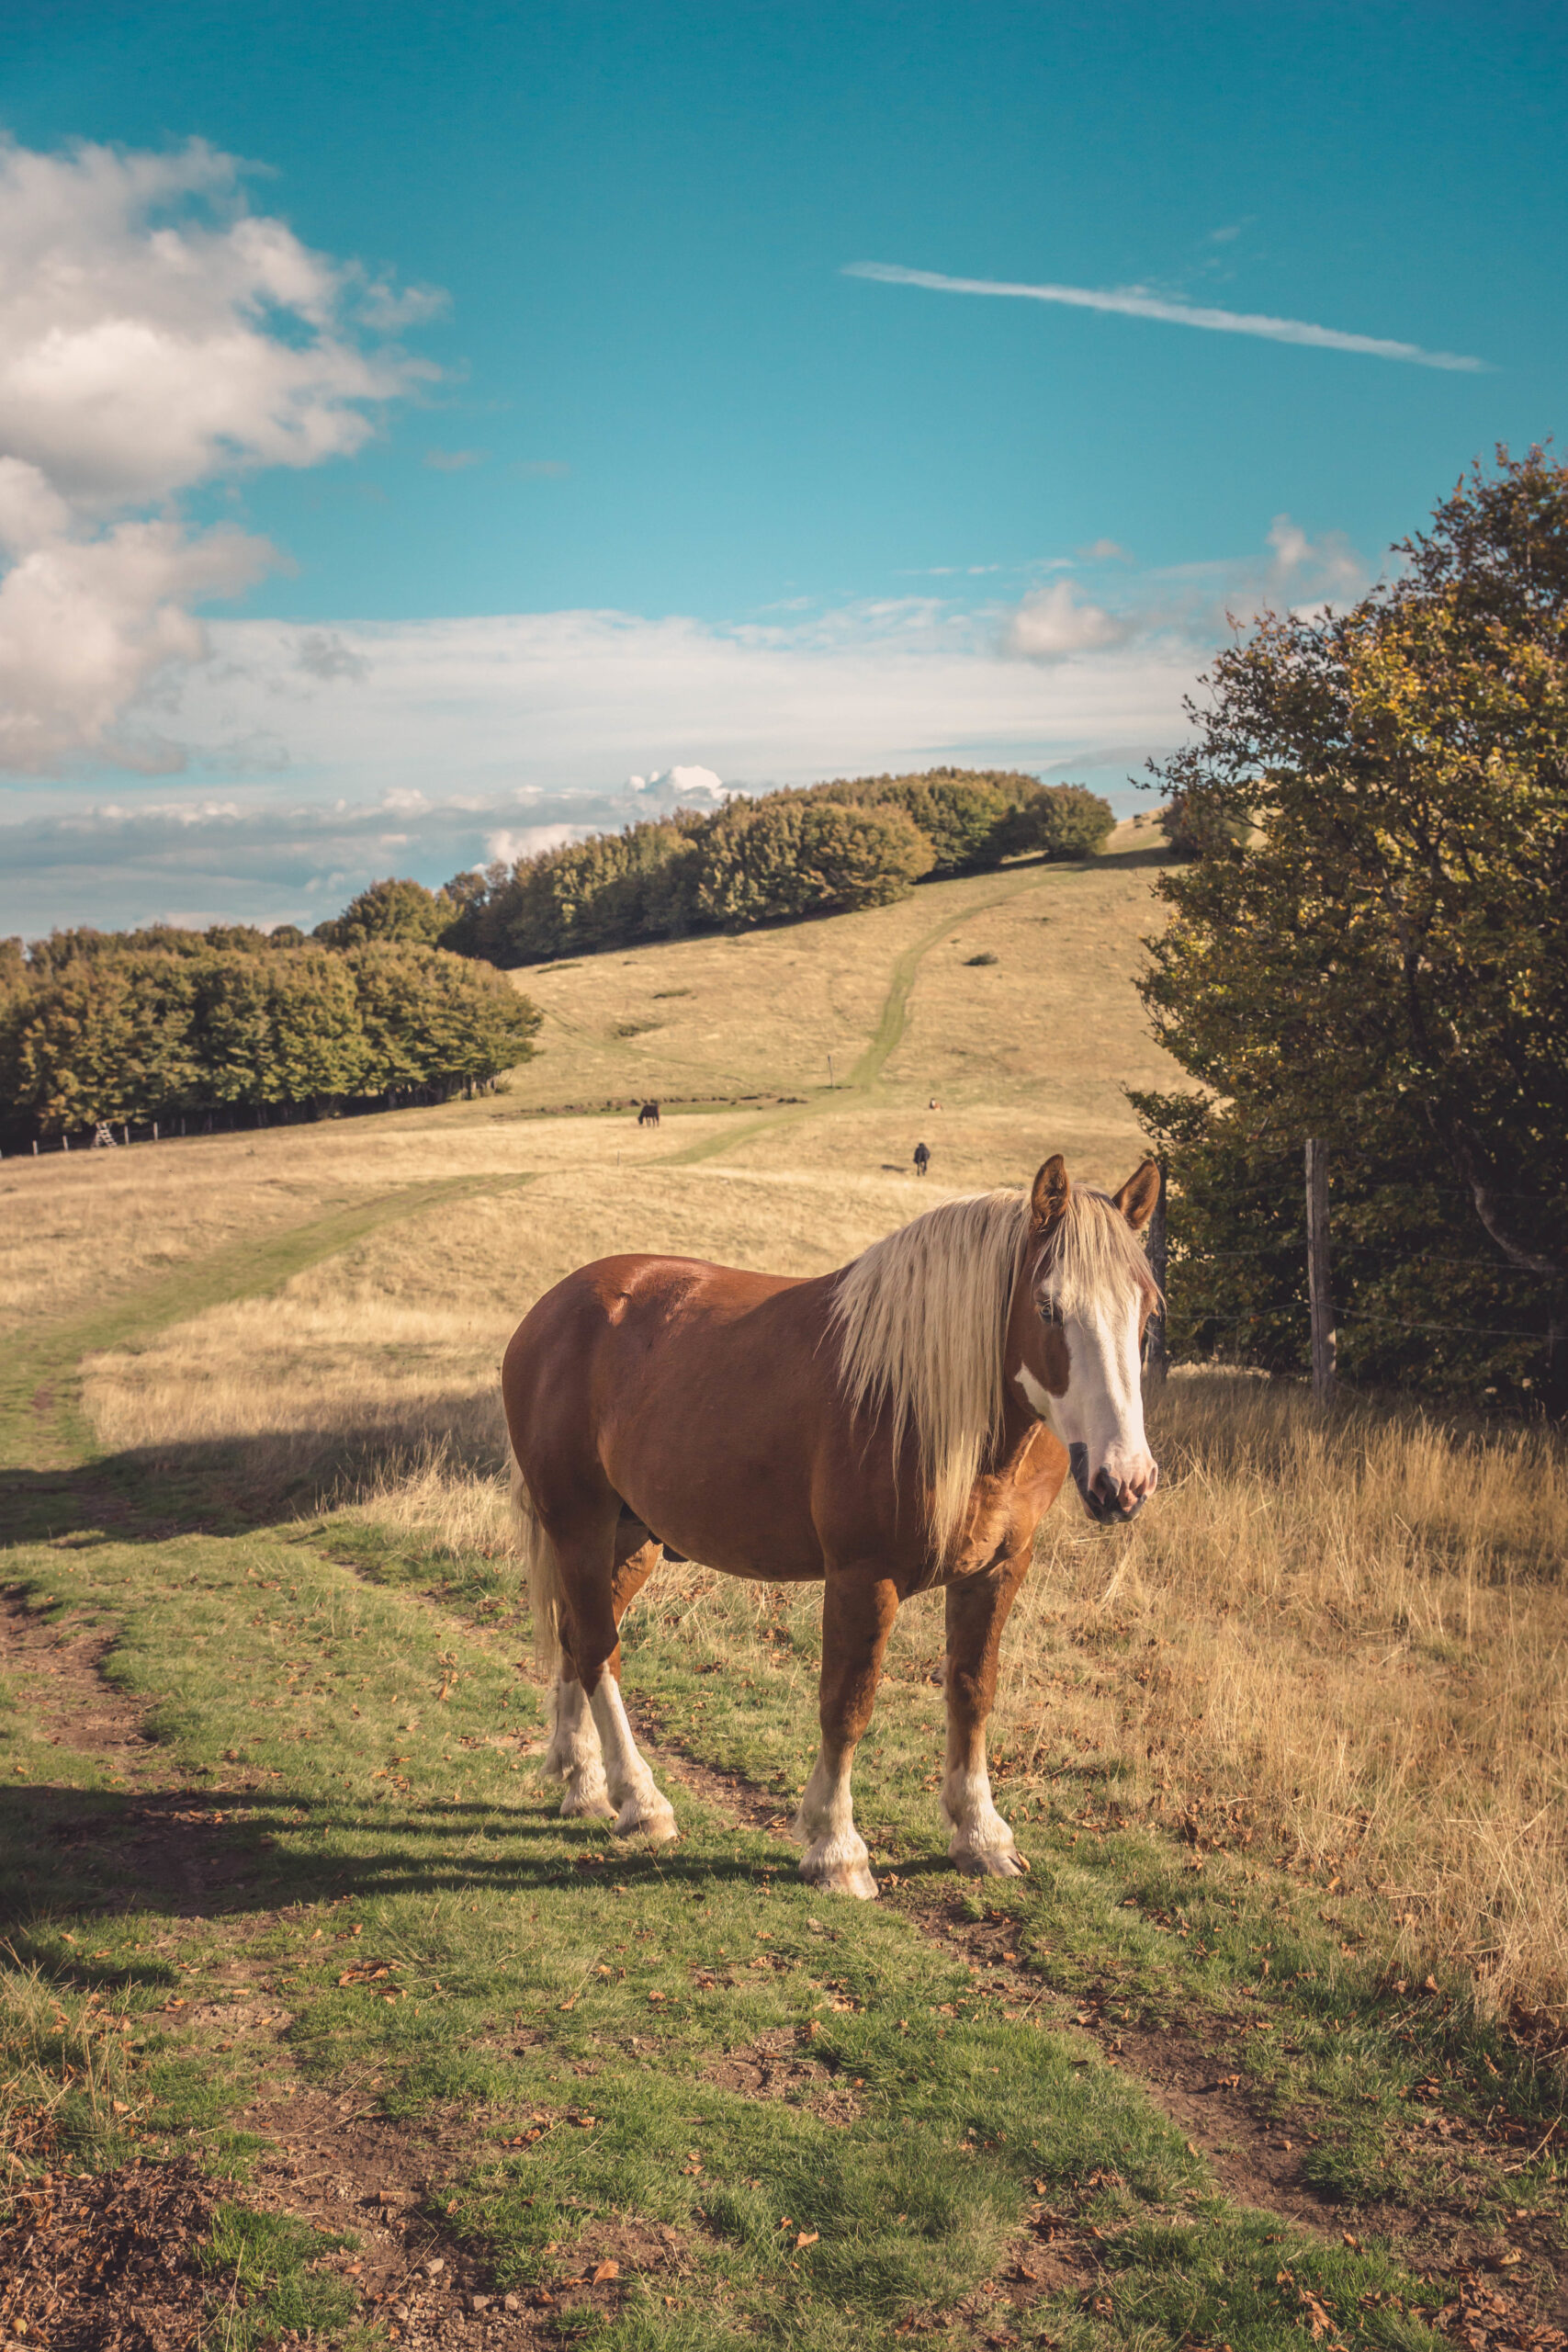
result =
[[[1154,1505],[1060,1505],[1009,1632],[1027,1882],[945,1865],[931,1604],[877,1905],[780,1830],[811,1592],[635,1611],[672,1853],[534,1778],[517,1317],[609,1249],[811,1272],[1051,1148],[1124,1176],[1147,882],[1128,833],[555,967],[501,1101],[0,1169],[0,2343],[75,2326],[87,2176],[235,2352],[1561,2352],[1549,1439],[1171,1381]],[[696,1108],[562,1108],[637,1094]]]

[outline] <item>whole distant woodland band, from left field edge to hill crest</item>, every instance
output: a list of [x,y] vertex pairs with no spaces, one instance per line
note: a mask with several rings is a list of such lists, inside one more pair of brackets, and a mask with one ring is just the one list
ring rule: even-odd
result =
[[0,941],[0,1120],[320,1115],[491,1087],[538,1011],[501,971],[684,931],[886,906],[926,875],[1093,856],[1084,786],[933,769],[675,811],[456,875],[386,880],[306,936],[214,924]]

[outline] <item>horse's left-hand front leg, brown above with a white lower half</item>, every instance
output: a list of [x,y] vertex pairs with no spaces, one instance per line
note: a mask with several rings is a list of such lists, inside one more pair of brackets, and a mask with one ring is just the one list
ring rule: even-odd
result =
[[865,1839],[856,1830],[849,1773],[877,1703],[882,1653],[898,1616],[898,1592],[886,1576],[832,1571],[823,1595],[823,1682],[818,1719],[823,1745],[799,1799],[795,1837],[804,1844],[802,1879],[830,1893],[877,1893]]

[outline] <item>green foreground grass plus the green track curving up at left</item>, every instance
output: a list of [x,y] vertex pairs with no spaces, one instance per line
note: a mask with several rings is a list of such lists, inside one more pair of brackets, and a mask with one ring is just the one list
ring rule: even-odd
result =
[[[327,1225],[268,1244],[268,1277],[343,1247]],[[259,1287],[230,1256],[106,1310],[92,1343],[139,1312],[188,1312],[221,1279]],[[940,1693],[896,1649],[858,1766],[865,1835],[900,1882],[884,1903],[802,1886],[776,1837],[679,1785],[682,1839],[658,1856],[562,1823],[522,1752],[538,1698],[517,1672],[505,1564],[331,1517],[202,1524],[186,1510],[200,1496],[129,1463],[110,1477],[73,1421],[85,1331],[49,1341],[47,1414],[28,1390],[59,1458],[40,1486],[9,1482],[24,1541],[2,1576],[28,1611],[113,1639],[108,1684],[153,1748],[139,1764],[54,1745],[47,1686],[7,1682],[14,2166],[179,2152],[242,2192],[256,2100],[355,2082],[388,2122],[442,2126],[444,2225],[496,2286],[550,2291],[552,2324],[604,2352],[837,2352],[910,2326],[959,2343],[1415,2347],[1434,2340],[1420,2314],[1439,2288],[1401,2265],[1413,2220],[1497,2234],[1523,2209],[1559,2227],[1554,2077],[1462,2004],[1394,1994],[1324,1889],[1267,1858],[1194,1872],[1124,1825],[1114,1755],[1056,1780],[1001,1776],[1034,1870],[971,1886],[943,1860]],[[28,1444],[14,1421],[12,1458]],[[799,1788],[816,1595],[726,1585],[693,1609],[656,1583],[625,1646],[628,1689],[679,1748],[780,1802]],[[200,1903],[172,1884],[193,1853]],[[971,1969],[969,1926],[1009,1931],[1037,1997]],[[1307,2232],[1227,2199],[1074,2013],[1105,2039],[1211,2032],[1260,2110],[1309,2140],[1307,2173],[1354,2211],[1356,2244],[1333,2213]],[[809,2074],[790,2096],[726,2086],[726,2063],[757,2049]],[[1486,2140],[1488,2110],[1519,2138]],[[1458,2152],[1410,2133],[1429,2112],[1465,2126]],[[616,2307],[574,2300],[607,2246],[658,2230],[677,2265],[628,2258]],[[1037,2296],[1011,2274],[1048,2230],[1077,2270]],[[235,2347],[378,2326],[310,2267],[322,2246],[303,2223],[221,2211],[209,2258],[233,2286]]]

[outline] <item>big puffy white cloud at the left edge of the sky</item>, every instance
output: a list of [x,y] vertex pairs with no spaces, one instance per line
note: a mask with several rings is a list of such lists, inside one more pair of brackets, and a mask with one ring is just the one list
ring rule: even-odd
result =
[[[235,595],[275,555],[190,532],[167,501],[353,456],[381,402],[430,369],[362,341],[395,289],[247,212],[240,167],[202,141],[0,146],[0,767],[179,767],[181,746],[127,708],[205,659],[188,607]],[[404,315],[433,299],[416,289]],[[155,520],[136,515],[148,506]]]

